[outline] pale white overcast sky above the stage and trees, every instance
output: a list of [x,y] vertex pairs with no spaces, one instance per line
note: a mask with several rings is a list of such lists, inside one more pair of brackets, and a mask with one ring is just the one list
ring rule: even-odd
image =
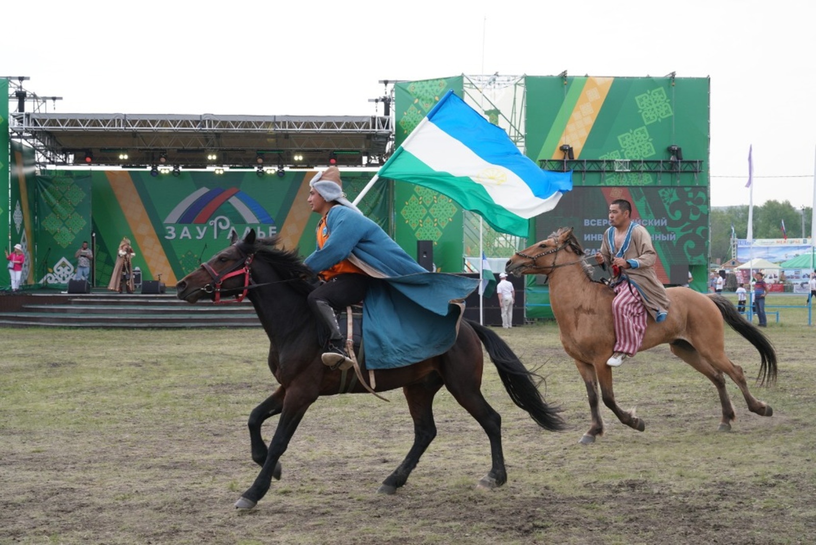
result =
[[753,144],[754,204],[799,208],[814,202],[813,12],[809,0],[45,0],[4,10],[0,75],[29,76],[62,113],[255,115],[382,113],[367,100],[384,79],[710,77],[712,206],[747,204]]

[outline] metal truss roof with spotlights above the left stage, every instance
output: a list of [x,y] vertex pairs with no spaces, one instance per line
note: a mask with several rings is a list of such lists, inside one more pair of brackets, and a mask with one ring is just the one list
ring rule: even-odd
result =
[[[381,164],[392,152],[384,116],[234,116],[13,113],[12,137],[38,164],[150,166],[339,166]],[[334,153],[334,154],[333,154]],[[120,155],[126,154],[122,159]],[[207,156],[215,154],[215,160]]]

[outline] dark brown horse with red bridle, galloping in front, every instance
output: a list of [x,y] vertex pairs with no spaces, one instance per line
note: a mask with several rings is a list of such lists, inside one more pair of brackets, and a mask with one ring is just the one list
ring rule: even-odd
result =
[[[261,466],[251,487],[235,507],[251,508],[269,490],[272,478],[280,478],[278,460],[286,451],[300,419],[320,396],[331,396],[350,388],[366,392],[357,381],[340,370],[330,370],[320,359],[317,322],[306,303],[313,277],[293,251],[277,247],[277,239],[255,239],[251,231],[242,241],[233,235],[233,245],[220,251],[176,286],[179,299],[189,303],[205,297],[220,299],[248,293],[269,338],[268,366],[280,386],[249,418],[252,459]],[[250,283],[255,286],[250,287]],[[379,492],[393,494],[404,485],[419,457],[437,434],[433,421],[433,397],[442,386],[477,420],[490,439],[492,466],[479,485],[494,488],[507,481],[501,441],[501,417],[481,395],[482,345],[490,355],[512,401],[526,410],[536,423],[548,430],[564,427],[559,410],[548,406],[536,388],[533,374],[493,331],[473,321],[463,321],[453,347],[444,354],[413,365],[377,370],[377,392],[402,388],[414,419],[414,445],[402,463],[389,475]],[[364,364],[363,364],[364,365]],[[364,375],[365,376],[365,375]],[[268,447],[261,438],[264,420],[280,414]]]

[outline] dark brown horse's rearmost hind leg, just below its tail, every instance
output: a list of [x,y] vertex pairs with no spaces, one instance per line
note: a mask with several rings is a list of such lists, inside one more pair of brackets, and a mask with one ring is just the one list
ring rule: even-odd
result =
[[[461,336],[461,333],[459,335]],[[466,357],[471,359],[462,360],[461,356],[456,358],[459,361],[467,361],[468,363],[465,366],[444,366],[441,369],[442,380],[445,381],[445,387],[451,395],[455,397],[456,401],[459,401],[459,405],[462,405],[476,419],[481,428],[485,430],[488,439],[490,439],[492,465],[490,472],[481,477],[479,488],[497,488],[508,480],[502,449],[502,417],[481,395],[481,365],[477,367],[472,363],[477,357],[478,361],[482,361],[481,353],[478,356],[467,355]],[[449,357],[447,361],[450,364],[454,359],[455,357]]]

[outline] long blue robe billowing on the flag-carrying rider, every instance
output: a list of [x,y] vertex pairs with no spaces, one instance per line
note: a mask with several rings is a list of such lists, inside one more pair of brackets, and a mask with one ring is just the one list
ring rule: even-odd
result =
[[371,277],[362,327],[369,369],[407,366],[453,346],[477,279],[426,271],[378,224],[345,206],[332,206],[326,228],[326,243],[304,263],[321,272],[348,258]]

